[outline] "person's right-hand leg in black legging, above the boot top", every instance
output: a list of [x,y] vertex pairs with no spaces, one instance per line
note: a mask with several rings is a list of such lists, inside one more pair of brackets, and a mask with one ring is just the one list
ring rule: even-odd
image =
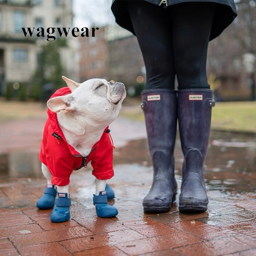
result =
[[215,4],[206,2],[172,7],[173,59],[179,89],[210,88],[206,58],[214,12]]

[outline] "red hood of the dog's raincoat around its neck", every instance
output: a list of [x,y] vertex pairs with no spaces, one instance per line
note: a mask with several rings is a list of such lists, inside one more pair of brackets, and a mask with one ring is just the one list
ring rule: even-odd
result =
[[[57,97],[57,96],[64,96],[64,95],[67,95],[71,93],[71,90],[67,87],[63,87],[63,88],[60,88],[58,89],[56,92],[54,92],[51,96],[50,99],[54,98],[54,97]],[[61,139],[63,139],[67,144],[67,140],[62,132],[62,130],[60,129],[60,126],[58,124],[58,119],[57,119],[57,114],[55,112],[52,112],[49,108],[47,108],[47,114],[48,114],[48,117],[49,117],[49,121],[50,121],[50,124],[52,126],[52,130],[53,132],[56,134],[56,135],[59,135],[61,137]],[[105,128],[103,134],[108,130],[108,126]],[[99,145],[99,141],[97,141],[94,146],[92,147],[93,148],[96,148],[98,147]],[[75,148],[73,148],[70,144],[68,144],[68,148],[71,152],[71,154],[73,155],[80,155],[80,153],[78,153],[76,151]]]

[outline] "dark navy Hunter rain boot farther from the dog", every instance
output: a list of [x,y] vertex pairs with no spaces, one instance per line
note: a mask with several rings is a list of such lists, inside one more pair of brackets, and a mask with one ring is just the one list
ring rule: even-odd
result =
[[204,184],[204,161],[207,153],[212,107],[210,89],[178,91],[178,121],[184,154],[180,212],[204,212],[208,197]]

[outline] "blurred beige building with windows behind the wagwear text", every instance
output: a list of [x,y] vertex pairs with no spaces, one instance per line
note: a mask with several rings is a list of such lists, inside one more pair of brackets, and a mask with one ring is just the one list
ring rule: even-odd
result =
[[[42,45],[51,43],[36,37],[36,28],[72,28],[72,20],[72,0],[0,0],[0,94],[6,84],[29,83]],[[21,27],[35,27],[33,36],[25,37]],[[78,80],[77,44],[72,36],[64,40],[59,48],[63,75]]]

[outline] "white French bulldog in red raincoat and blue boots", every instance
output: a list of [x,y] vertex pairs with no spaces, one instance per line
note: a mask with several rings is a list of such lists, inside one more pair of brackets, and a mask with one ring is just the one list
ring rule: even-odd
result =
[[105,79],[90,79],[78,84],[64,76],[62,78],[68,87],[56,91],[47,102],[49,118],[39,154],[47,187],[37,207],[50,209],[54,206],[53,222],[68,220],[71,205],[69,176],[73,170],[92,161],[92,173],[96,177],[93,202],[97,215],[116,216],[116,208],[107,204],[105,189],[107,179],[114,175],[114,147],[108,125],[118,116],[126,97],[124,84]]

